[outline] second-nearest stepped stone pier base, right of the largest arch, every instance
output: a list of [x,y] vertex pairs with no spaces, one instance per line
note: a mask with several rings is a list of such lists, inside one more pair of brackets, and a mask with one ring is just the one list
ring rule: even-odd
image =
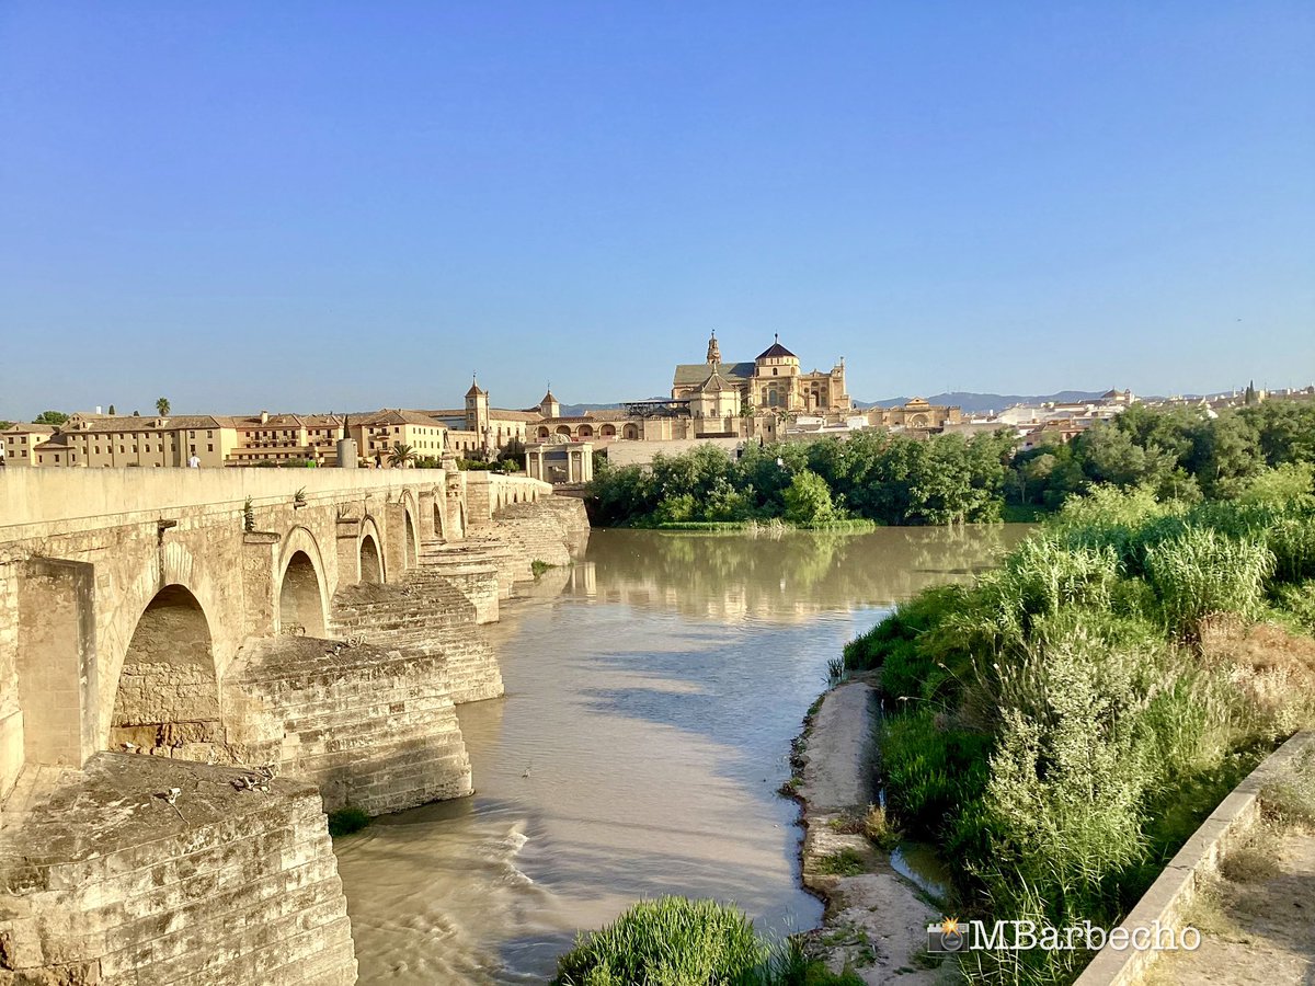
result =
[[371,815],[471,793],[442,655],[314,638],[245,649],[225,682],[229,743],[247,764],[314,781],[327,811]]

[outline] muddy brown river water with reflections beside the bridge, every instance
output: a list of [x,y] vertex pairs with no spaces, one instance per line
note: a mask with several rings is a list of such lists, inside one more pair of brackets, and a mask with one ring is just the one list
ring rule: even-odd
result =
[[460,710],[475,797],[339,840],[360,981],[542,982],[577,928],[663,893],[815,924],[775,791],[827,659],[1020,534],[594,531],[489,628],[508,694]]

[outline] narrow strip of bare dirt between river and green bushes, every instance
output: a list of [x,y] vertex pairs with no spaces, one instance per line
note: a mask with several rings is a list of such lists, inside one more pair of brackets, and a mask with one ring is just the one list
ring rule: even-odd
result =
[[[876,695],[865,681],[831,689],[806,731],[802,782],[803,886],[826,902],[813,951],[839,972],[848,966],[865,983],[945,983],[957,981],[953,962],[928,968],[927,924],[940,920],[917,891],[890,866],[890,856],[863,835],[838,831],[861,818],[876,801],[872,732]],[[864,873],[832,876],[828,862],[846,849],[863,861]],[[853,858],[853,856],[851,856]]]

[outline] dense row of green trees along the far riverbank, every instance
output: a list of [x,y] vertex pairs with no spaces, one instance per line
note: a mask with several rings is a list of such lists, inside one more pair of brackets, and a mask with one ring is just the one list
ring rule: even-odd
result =
[[1002,430],[913,439],[863,431],[846,440],[704,446],[651,467],[602,468],[594,522],[648,526],[782,518],[888,525],[998,521],[1009,504],[1057,509],[1097,486],[1227,500],[1266,468],[1315,463],[1315,405],[1224,410],[1134,406],[1070,443],[1016,452]]

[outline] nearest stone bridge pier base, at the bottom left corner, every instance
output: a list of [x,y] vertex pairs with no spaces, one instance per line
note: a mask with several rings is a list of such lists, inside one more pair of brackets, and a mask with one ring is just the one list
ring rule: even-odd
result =
[[9,812],[0,983],[354,983],[318,793],[239,791],[241,774],[97,753]]

